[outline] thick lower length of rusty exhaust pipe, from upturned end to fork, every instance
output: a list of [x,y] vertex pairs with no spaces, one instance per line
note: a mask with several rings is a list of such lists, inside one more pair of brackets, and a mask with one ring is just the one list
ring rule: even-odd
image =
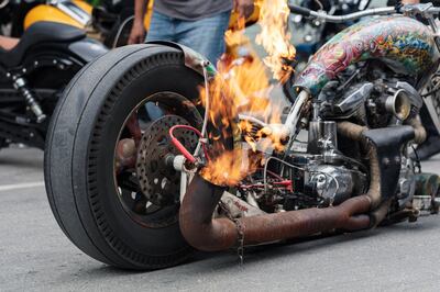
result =
[[[338,206],[306,209],[238,218],[212,218],[224,188],[196,175],[180,206],[180,231],[195,248],[206,251],[224,250],[238,246],[239,231],[244,245],[257,245],[317,233],[345,229],[358,231],[370,226],[371,199],[360,195]],[[360,215],[359,215],[360,214]]]

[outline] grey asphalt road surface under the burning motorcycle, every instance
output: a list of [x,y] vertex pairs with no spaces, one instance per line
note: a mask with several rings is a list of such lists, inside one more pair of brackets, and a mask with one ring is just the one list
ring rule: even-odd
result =
[[[78,250],[58,228],[43,154],[0,151],[0,291],[439,291],[440,216],[370,232],[121,271]],[[440,171],[440,157],[425,164]]]

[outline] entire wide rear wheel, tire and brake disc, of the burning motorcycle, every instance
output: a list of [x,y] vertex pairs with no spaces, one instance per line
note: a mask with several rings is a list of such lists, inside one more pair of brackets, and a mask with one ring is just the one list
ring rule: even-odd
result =
[[[180,50],[139,45],[99,58],[66,89],[47,138],[46,189],[59,226],[89,256],[157,269],[191,254],[178,225],[180,173],[168,130],[200,127],[202,82]],[[190,131],[175,136],[195,149]]]

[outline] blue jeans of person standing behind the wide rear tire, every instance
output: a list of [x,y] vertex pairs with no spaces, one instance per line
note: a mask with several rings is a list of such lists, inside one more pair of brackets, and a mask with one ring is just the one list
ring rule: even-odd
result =
[[231,12],[222,12],[197,21],[173,19],[153,12],[146,41],[170,41],[200,53],[213,65],[224,53],[224,32]]

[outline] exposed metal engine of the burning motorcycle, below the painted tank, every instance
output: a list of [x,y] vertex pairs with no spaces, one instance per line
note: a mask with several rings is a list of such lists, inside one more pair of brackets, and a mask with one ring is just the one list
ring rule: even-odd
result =
[[[266,212],[283,212],[338,205],[369,190],[365,149],[338,135],[338,122],[369,128],[400,125],[417,114],[421,98],[408,82],[393,78],[337,86],[340,91],[329,83],[312,105],[314,116],[304,125],[307,143],[295,147],[293,141],[287,146],[293,151],[271,153],[264,168],[239,187],[244,200]],[[415,193],[414,172],[414,162],[404,155],[397,188],[400,206]]]

